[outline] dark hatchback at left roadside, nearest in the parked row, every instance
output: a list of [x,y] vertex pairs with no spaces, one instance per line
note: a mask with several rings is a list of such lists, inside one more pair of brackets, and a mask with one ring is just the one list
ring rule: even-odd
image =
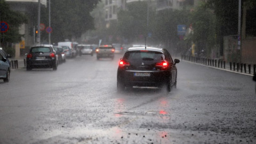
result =
[[27,54],[27,70],[32,68],[53,68],[57,70],[58,55],[52,45],[38,45],[30,48]]

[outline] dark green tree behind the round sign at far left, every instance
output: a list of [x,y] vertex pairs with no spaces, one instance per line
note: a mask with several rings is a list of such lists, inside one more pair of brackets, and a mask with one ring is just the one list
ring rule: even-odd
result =
[[27,22],[27,18],[20,12],[12,11],[4,0],[0,0],[0,7],[1,21],[5,21],[9,25],[9,30],[6,33],[1,33],[0,41],[1,46],[5,44],[8,47],[11,43],[20,42],[22,35],[19,34],[19,27]]

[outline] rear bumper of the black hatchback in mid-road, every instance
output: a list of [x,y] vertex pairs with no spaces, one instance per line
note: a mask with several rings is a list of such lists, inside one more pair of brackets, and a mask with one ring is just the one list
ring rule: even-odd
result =
[[[150,76],[135,76],[134,73],[150,73]],[[117,81],[125,86],[156,86],[162,87],[170,78],[170,72],[165,71],[129,71],[118,70]]]

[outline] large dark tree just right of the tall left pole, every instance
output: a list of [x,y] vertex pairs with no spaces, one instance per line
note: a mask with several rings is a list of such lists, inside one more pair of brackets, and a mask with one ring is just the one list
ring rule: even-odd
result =
[[100,0],[51,1],[52,42],[81,37],[89,29],[94,29],[90,12]]

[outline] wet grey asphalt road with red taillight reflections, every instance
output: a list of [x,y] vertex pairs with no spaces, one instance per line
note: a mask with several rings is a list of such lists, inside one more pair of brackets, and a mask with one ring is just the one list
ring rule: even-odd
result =
[[12,70],[0,81],[0,143],[256,143],[251,76],[181,61],[176,90],[117,93],[119,58]]

